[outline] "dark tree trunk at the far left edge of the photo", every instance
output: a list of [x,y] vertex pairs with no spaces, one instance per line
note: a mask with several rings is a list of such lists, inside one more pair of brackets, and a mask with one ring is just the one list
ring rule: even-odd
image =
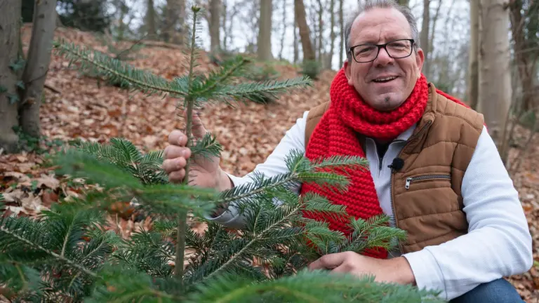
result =
[[18,151],[17,75],[9,65],[17,61],[19,50],[20,0],[0,1],[0,149]]

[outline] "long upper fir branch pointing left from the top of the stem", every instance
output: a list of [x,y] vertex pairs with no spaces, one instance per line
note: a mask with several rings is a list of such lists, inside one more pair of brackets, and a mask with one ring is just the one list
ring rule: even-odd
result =
[[159,76],[155,76],[150,72],[145,72],[140,69],[121,62],[120,60],[110,58],[109,56],[97,50],[88,50],[87,48],[76,46],[74,43],[64,43],[63,41],[54,41],[53,48],[56,48],[58,55],[64,55],[69,59],[69,65],[73,62],[80,62],[82,70],[92,70],[97,72],[105,79],[121,83],[129,83],[142,93],[149,95],[164,93],[171,94],[173,97],[183,97],[187,95],[181,87],[173,85],[174,82],[168,82]]

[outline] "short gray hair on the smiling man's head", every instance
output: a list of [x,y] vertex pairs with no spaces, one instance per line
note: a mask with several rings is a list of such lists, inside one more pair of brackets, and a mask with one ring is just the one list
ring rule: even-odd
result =
[[[357,16],[366,11],[371,11],[373,8],[394,8],[397,11],[401,12],[408,21],[408,25],[410,25],[410,29],[412,31],[412,39],[415,42],[415,45],[417,47],[420,46],[418,24],[410,8],[408,8],[407,6],[401,6],[394,0],[366,0],[365,4],[361,4],[361,1],[358,1],[358,8],[353,11],[352,14],[350,14],[348,20],[345,23],[345,51],[346,58],[349,62],[350,60],[352,60],[352,55],[348,52],[348,50],[350,50],[350,32],[352,32],[352,25],[354,24],[354,21],[356,20]],[[417,52],[417,48],[414,49]]]

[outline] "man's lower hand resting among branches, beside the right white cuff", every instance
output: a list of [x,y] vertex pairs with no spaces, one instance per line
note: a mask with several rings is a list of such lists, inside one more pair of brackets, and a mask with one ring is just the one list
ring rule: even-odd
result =
[[377,282],[415,284],[413,271],[404,257],[390,260],[365,257],[354,252],[324,255],[312,262],[314,269],[330,269],[335,273],[349,273],[356,276],[373,275]]

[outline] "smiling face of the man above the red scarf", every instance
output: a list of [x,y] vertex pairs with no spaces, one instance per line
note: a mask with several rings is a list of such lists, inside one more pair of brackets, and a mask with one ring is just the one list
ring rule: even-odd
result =
[[[361,13],[350,32],[350,46],[382,44],[397,39],[412,39],[412,36],[404,15],[393,8],[374,8]],[[350,62],[345,62],[345,74],[348,84],[356,88],[368,105],[380,111],[391,111],[406,101],[412,92],[421,76],[423,60],[420,48],[417,53],[413,51],[410,56],[400,59],[391,58],[382,48],[372,62],[358,63],[352,57]]]

